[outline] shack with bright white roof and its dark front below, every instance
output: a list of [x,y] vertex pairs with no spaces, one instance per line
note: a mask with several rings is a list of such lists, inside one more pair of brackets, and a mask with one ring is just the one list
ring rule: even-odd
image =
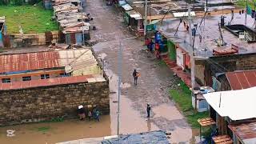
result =
[[256,118],[255,92],[256,87],[250,87],[203,95],[210,105],[210,117],[216,122],[220,134],[228,134],[232,138],[228,125]]

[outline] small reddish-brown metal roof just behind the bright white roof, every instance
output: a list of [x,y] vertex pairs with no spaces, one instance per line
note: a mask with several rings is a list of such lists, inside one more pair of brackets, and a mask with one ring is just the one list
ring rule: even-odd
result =
[[256,70],[227,72],[226,78],[232,90],[242,90],[256,86]]

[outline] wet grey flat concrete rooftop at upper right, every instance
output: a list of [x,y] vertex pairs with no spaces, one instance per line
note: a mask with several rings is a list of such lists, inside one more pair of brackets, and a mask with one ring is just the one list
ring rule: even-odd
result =
[[[247,14],[234,14],[232,19],[232,14],[224,15],[225,26],[229,25],[244,25],[246,21],[247,28],[254,30],[255,19],[251,18]],[[190,35],[186,30],[184,23],[188,22],[187,17],[182,18],[182,23],[180,23],[180,18],[165,19],[163,22],[158,23],[158,30],[171,41],[178,43],[178,45],[186,52],[191,52],[192,45],[190,43]],[[200,23],[202,22],[201,26]],[[256,43],[246,42],[244,38],[239,39],[237,35],[234,35],[235,32],[231,32],[224,28],[219,30],[218,23],[221,22],[221,16],[210,16],[206,14],[206,18],[202,20],[202,17],[193,17],[192,18],[192,28],[196,29],[196,34],[194,38],[194,54],[199,58],[208,58],[214,55],[214,50],[231,50],[231,46],[238,46],[237,54],[248,54],[256,52],[255,46]],[[179,26],[180,23],[180,26]],[[194,24],[197,24],[194,26]],[[174,36],[177,30],[177,34]],[[218,46],[218,43],[222,38],[225,43],[224,46]],[[192,38],[193,42],[193,38]]]

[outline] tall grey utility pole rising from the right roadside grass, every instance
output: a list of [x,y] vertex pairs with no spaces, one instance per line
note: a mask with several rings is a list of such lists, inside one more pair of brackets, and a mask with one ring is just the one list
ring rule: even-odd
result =
[[[189,20],[189,26],[190,26],[190,29],[189,29],[189,33],[190,33],[190,63],[191,63],[191,88],[192,88],[192,96],[194,94],[194,48],[192,46],[192,25],[191,25],[191,21],[192,21],[192,18],[191,18],[191,14],[190,14],[190,4],[189,4],[189,7],[188,7],[188,20]],[[194,37],[195,38],[195,37]],[[195,98],[194,98],[194,104],[195,104],[195,110],[197,110],[197,94],[195,94]]]

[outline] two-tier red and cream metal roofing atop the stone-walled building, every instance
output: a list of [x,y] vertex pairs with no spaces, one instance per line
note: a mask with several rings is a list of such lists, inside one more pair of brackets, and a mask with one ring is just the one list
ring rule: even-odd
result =
[[69,76],[30,81],[0,82],[0,90],[24,89],[79,82],[102,82],[102,70],[92,50],[56,50],[25,54],[0,55],[0,78],[13,74],[30,74],[49,70],[63,70]]

